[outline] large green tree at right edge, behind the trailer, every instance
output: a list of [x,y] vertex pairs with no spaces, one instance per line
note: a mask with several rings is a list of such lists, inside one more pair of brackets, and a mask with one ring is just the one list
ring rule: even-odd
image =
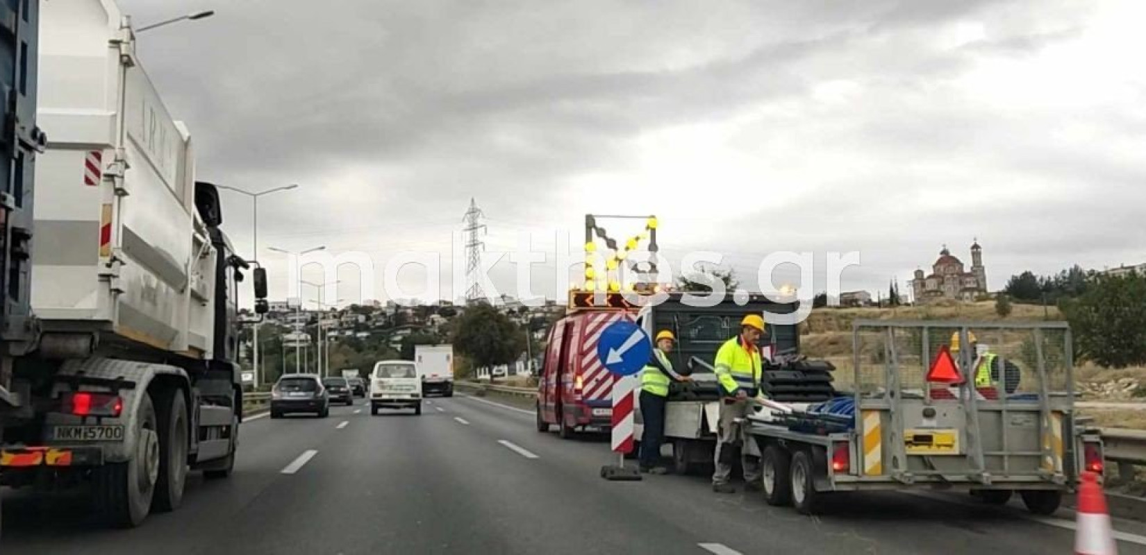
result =
[[1082,296],[1059,307],[1081,356],[1116,368],[1146,364],[1146,277],[1094,276]]

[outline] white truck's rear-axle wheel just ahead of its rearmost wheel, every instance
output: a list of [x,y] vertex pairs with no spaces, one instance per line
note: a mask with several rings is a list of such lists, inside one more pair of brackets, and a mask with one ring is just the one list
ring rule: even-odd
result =
[[187,401],[179,389],[168,389],[156,411],[159,422],[159,479],[151,507],[170,513],[183,504],[187,484]]

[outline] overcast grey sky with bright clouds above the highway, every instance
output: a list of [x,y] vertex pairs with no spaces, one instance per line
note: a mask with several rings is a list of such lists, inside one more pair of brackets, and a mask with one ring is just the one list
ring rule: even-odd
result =
[[[262,247],[448,259],[473,197],[490,251],[657,214],[670,260],[724,252],[746,282],[771,252],[858,251],[845,290],[905,288],[975,237],[991,290],[1146,261],[1140,1],[323,3],[120,2],[136,24],[218,10],[138,50],[201,179],[301,184],[260,201]],[[250,201],[225,195],[249,253]]]

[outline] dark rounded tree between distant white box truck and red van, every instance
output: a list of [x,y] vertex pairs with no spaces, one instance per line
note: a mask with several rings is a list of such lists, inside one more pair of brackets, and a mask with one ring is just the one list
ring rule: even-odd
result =
[[486,303],[466,308],[457,319],[450,342],[476,367],[517,360],[525,350],[525,332]]

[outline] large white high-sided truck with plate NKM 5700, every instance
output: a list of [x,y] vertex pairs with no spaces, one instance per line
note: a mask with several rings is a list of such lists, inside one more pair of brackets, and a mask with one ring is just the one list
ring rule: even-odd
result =
[[[24,333],[0,338],[0,484],[91,483],[109,524],[135,526],[180,506],[190,469],[231,471],[237,283],[252,262],[220,230],[217,189],[195,180],[190,135],[140,65],[129,19],[112,0],[40,7],[48,141],[23,184],[29,310],[3,314]],[[253,276],[261,314],[266,275]]]

